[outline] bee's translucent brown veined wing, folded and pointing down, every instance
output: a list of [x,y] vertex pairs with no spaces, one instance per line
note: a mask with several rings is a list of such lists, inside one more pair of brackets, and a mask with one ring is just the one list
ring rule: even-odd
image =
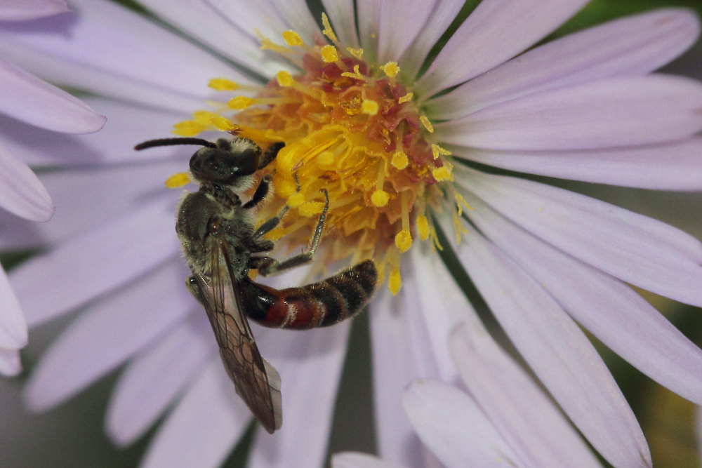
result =
[[232,273],[227,246],[217,238],[211,242],[211,281],[195,274],[197,293],[237,393],[272,434],[282,424],[280,375],[261,357],[251,335],[249,322],[242,313],[239,287]]

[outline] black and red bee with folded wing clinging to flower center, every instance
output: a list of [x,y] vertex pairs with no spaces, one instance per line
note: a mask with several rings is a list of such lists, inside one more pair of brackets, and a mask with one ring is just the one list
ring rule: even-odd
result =
[[220,356],[241,399],[272,434],[282,424],[280,376],[261,357],[247,317],[272,328],[330,326],[360,312],[373,294],[378,273],[372,260],[317,283],[277,290],[256,283],[249,271],[262,276],[310,262],[322,239],[329,210],[329,194],[312,234],[309,248],[286,260],[267,255],[274,243],[263,236],[279,225],[287,207],[258,228],[252,214],[271,189],[264,175],[253,196],[242,203],[239,193],[253,182],[256,171],[275,159],[284,144],[265,151],[246,138],[166,138],[137,145],[145,149],[169,145],[199,145],[190,158],[197,192],[184,196],[178,206],[176,233],[192,276],[187,287],[204,306],[219,345]]

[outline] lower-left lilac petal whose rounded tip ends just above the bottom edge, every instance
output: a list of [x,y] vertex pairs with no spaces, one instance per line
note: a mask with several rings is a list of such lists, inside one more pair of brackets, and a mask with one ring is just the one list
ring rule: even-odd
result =
[[142,436],[216,351],[206,315],[197,310],[170,335],[135,356],[107,406],[105,430],[110,439],[125,446]]

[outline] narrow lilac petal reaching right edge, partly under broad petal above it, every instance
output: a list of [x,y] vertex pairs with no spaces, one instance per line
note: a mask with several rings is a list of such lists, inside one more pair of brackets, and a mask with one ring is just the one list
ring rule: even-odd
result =
[[702,190],[702,138],[651,147],[583,151],[452,149],[458,157],[510,171],[642,189]]

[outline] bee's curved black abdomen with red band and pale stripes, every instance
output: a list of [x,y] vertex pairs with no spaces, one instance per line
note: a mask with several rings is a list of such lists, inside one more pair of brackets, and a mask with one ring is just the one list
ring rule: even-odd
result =
[[274,289],[253,281],[240,285],[244,312],[271,328],[333,325],[363,309],[376,288],[378,272],[366,260],[324,281],[299,288]]

